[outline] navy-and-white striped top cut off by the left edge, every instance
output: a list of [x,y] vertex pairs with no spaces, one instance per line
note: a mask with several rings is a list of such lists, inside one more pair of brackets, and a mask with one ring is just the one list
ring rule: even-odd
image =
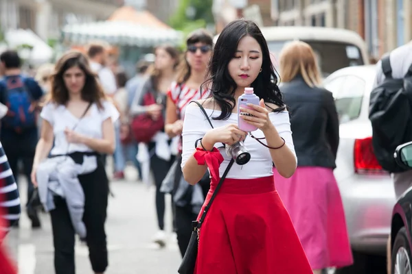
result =
[[[20,197],[17,189],[16,181],[10,169],[7,156],[4,153],[3,146],[0,142],[0,210],[3,214],[3,219],[7,221],[6,227],[0,227],[4,231],[8,231],[16,221],[20,218]],[[0,222],[1,223],[1,222]]]

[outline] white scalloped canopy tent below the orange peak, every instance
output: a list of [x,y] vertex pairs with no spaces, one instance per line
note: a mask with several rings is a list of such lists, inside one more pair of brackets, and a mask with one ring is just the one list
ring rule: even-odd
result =
[[66,25],[62,29],[62,39],[73,44],[105,40],[112,45],[155,47],[163,43],[180,45],[182,34],[174,29],[161,29],[127,21],[100,21]]

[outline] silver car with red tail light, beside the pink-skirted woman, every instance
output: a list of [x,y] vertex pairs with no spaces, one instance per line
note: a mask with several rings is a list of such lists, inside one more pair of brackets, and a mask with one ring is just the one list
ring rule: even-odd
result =
[[339,273],[378,273],[371,270],[378,261],[374,258],[379,258],[385,269],[382,258],[386,256],[396,199],[391,177],[378,164],[371,144],[369,95],[375,76],[374,65],[350,66],[324,80],[339,114],[340,143],[334,175],[354,253],[354,265]]

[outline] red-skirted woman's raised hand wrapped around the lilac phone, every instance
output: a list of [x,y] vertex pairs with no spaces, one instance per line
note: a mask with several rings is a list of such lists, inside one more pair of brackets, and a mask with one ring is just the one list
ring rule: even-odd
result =
[[265,132],[267,129],[273,127],[271,119],[269,119],[269,112],[266,110],[266,105],[264,105],[263,99],[260,100],[259,105],[254,105],[253,103],[248,103],[247,105],[252,109],[240,107],[240,110],[242,112],[252,114],[253,116],[239,115],[246,123],[258,127],[258,129],[262,130],[262,132]]

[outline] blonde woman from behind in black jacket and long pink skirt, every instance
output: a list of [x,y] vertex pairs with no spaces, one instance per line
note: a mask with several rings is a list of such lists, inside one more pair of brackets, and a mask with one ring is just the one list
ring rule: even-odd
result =
[[339,120],[332,92],[321,88],[321,74],[310,45],[290,42],[279,58],[281,91],[292,113],[290,124],[297,169],[290,178],[273,169],[275,185],[313,273],[349,266],[352,251],[341,193],[333,174],[339,146]]

